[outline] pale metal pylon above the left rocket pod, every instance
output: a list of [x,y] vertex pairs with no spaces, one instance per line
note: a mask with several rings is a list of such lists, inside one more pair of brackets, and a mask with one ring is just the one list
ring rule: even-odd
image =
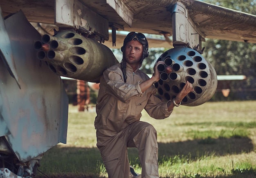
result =
[[109,40],[108,20],[78,0],[55,0],[55,24],[89,33],[98,41]]

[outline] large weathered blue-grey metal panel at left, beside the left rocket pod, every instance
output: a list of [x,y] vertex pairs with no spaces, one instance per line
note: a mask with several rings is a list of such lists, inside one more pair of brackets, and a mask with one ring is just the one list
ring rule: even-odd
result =
[[0,58],[0,113],[9,130],[4,139],[26,162],[66,142],[68,98],[60,76],[36,59],[33,46],[41,36],[22,11],[4,22],[21,88]]

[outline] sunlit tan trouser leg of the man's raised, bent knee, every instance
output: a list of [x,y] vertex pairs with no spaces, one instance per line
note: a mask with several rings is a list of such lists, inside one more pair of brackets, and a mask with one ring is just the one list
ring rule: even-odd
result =
[[[135,122],[130,128],[128,147],[139,149],[142,178],[159,178],[157,131],[147,122]],[[132,140],[132,141],[131,141]]]

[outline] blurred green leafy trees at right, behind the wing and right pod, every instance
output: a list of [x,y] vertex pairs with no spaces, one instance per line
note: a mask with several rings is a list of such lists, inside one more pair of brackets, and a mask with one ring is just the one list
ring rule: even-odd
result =
[[[211,4],[256,14],[256,0],[205,0]],[[213,65],[218,75],[245,75],[245,81],[232,81],[231,99],[256,99],[256,46],[252,43],[206,39],[203,56]],[[223,99],[216,94],[215,99]]]

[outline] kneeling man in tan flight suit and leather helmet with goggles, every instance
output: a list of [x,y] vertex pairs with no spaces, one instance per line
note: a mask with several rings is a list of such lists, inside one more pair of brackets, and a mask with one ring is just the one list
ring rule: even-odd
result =
[[157,65],[163,62],[157,62],[151,78],[139,70],[148,56],[146,37],[130,32],[121,51],[121,63],[104,71],[100,80],[95,118],[97,147],[109,178],[135,177],[130,172],[127,147],[139,149],[142,167],[139,177],[158,178],[157,132],[149,123],[139,121],[141,111],[145,109],[151,117],[164,119],[193,87],[187,82],[175,100],[162,102],[153,84],[160,79]]

